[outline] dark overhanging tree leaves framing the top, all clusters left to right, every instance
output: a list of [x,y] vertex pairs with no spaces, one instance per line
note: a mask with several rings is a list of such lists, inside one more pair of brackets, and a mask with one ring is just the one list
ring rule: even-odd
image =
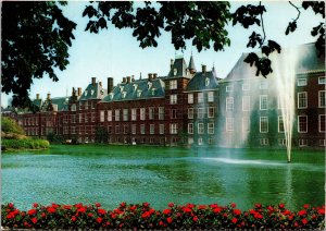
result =
[[[49,75],[58,81],[54,68],[64,70],[68,64],[68,47],[74,39],[72,34],[76,24],[64,17],[53,2],[2,2],[2,92],[13,93],[13,105],[30,104],[28,89],[33,78]],[[61,3],[62,4],[62,3]],[[297,28],[297,21],[301,11],[313,10],[325,19],[325,2],[302,2],[302,8],[289,2],[298,11],[298,16],[289,22],[285,34]],[[20,12],[20,13],[17,13]],[[89,22],[85,31],[100,33],[109,26],[118,29],[131,28],[133,36],[141,48],[156,47],[156,39],[162,31],[171,33],[175,49],[185,49],[186,40],[192,39],[192,46],[198,51],[213,47],[215,51],[223,50],[230,45],[225,28],[228,22],[240,24],[244,29],[252,25],[261,27],[262,33],[252,32],[247,47],[259,47],[262,56],[251,52],[244,60],[267,76],[273,72],[269,53],[281,51],[281,47],[274,40],[267,39],[264,31],[263,16],[266,13],[262,2],[256,5],[241,5],[236,12],[230,12],[230,4],[226,1],[187,2],[162,1],[145,2],[137,7],[128,1],[90,2],[85,8],[83,16]],[[311,34],[316,39],[319,54],[325,53],[325,22],[321,22]]]

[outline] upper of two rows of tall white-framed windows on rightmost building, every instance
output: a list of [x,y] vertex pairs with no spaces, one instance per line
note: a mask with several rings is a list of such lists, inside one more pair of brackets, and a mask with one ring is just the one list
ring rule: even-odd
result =
[[[242,96],[242,111],[250,111],[250,96]],[[318,92],[318,107],[326,107],[326,90]],[[226,97],[226,110],[233,111],[235,108],[234,97]],[[278,97],[278,109],[284,108],[280,97]],[[298,93],[298,109],[308,108],[308,93]],[[260,110],[268,110],[268,96],[260,95]]]

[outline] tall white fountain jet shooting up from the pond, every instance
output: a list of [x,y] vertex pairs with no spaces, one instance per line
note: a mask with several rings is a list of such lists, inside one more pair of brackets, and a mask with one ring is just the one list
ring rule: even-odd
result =
[[294,119],[294,85],[298,53],[296,49],[286,49],[281,54],[272,57],[273,80],[278,95],[278,107],[281,111],[284,134],[286,139],[287,159],[291,161],[291,141]]

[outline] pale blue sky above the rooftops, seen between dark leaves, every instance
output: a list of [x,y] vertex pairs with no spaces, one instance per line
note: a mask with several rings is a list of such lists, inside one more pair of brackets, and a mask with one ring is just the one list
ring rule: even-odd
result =
[[[167,75],[170,69],[170,60],[176,54],[184,54],[187,63],[189,62],[192,51],[197,70],[201,69],[201,64],[206,64],[211,70],[213,63],[218,77],[225,77],[242,52],[251,51],[247,49],[248,37],[252,31],[261,32],[255,27],[244,29],[239,25],[227,26],[230,47],[226,47],[225,51],[215,52],[212,50],[202,50],[200,53],[191,41],[187,42],[187,49],[184,52],[175,51],[171,44],[171,36],[162,33],[159,38],[156,48],[141,49],[136,38],[133,37],[130,29],[116,29],[109,27],[100,34],[90,34],[85,32],[87,17],[82,17],[85,5],[88,2],[70,1],[64,8],[64,14],[77,23],[77,29],[74,32],[75,40],[70,48],[70,64],[66,70],[58,71],[59,82],[52,82],[48,77],[35,80],[30,89],[30,97],[35,98],[37,93],[46,98],[48,93],[51,97],[60,97],[71,95],[72,87],[82,87],[85,89],[91,77],[102,81],[106,88],[106,77],[114,77],[114,85],[120,83],[124,76],[139,74],[146,77],[148,73],[158,73],[159,76]],[[231,12],[241,4],[258,2],[231,2]],[[301,2],[294,1],[300,7]],[[311,28],[322,22],[321,16],[316,16],[312,10],[304,11],[302,9],[301,16],[298,21],[298,29],[288,36],[285,29],[288,22],[297,17],[297,10],[288,2],[263,2],[267,13],[264,15],[265,32],[267,39],[279,42],[283,47],[291,47],[300,44],[312,42],[315,40],[310,35]],[[5,56],[5,54],[4,54]],[[8,96],[2,94],[2,106],[7,106]]]

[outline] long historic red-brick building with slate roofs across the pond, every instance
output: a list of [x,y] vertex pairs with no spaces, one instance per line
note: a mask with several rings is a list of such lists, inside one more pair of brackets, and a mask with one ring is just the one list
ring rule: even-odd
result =
[[[92,77],[84,92],[73,88],[71,96],[58,98],[48,94],[45,100],[37,96],[38,112],[12,114],[27,135],[52,133],[78,143],[95,142],[101,130],[111,144],[284,147],[278,95],[293,90],[293,98],[286,100],[294,107],[292,145],[325,146],[325,57],[316,56],[314,44],[297,48],[297,65],[291,68],[296,77],[289,86],[275,76],[255,76],[243,62],[246,56],[223,80],[214,68],[196,70],[192,56],[188,64],[179,57],[171,61],[166,76],[127,76],[116,85],[109,77],[105,86]],[[279,59],[273,61],[274,73],[287,75],[278,66],[292,60]]]

